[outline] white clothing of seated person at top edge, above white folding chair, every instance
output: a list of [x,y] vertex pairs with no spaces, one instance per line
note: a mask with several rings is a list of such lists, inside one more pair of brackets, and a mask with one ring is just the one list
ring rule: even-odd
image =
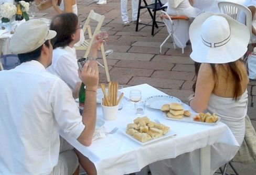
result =
[[190,18],[195,18],[201,13],[201,10],[191,6],[188,0],[184,0],[176,8],[172,8],[172,5],[170,5],[171,3],[172,0],[168,0],[168,3],[165,4],[165,6],[167,5],[167,14],[169,15],[184,15]]

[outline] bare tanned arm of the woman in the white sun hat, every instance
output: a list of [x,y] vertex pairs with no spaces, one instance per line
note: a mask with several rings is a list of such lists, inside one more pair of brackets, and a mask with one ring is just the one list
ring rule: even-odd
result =
[[206,110],[214,86],[214,74],[210,64],[202,63],[197,76],[195,97],[189,103],[195,112],[200,113]]

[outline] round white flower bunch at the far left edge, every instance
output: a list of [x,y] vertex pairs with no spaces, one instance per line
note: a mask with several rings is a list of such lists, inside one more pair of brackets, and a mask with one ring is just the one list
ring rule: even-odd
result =
[[10,18],[16,14],[17,8],[14,4],[4,3],[0,5],[0,15],[2,23],[8,23]]

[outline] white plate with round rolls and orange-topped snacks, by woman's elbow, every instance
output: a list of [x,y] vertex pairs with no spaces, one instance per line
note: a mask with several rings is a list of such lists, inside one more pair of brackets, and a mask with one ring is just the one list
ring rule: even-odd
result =
[[184,110],[183,105],[179,103],[164,104],[161,107],[166,119],[172,119],[181,122],[192,122],[207,125],[217,125],[220,117],[210,113],[191,113],[189,110]]

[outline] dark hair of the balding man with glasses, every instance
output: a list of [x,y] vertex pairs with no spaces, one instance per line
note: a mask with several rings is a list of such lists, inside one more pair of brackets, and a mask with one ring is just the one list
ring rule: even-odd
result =
[[78,17],[74,13],[62,13],[51,20],[50,30],[55,30],[57,35],[53,38],[54,49],[66,47],[72,41],[72,34],[77,30]]

